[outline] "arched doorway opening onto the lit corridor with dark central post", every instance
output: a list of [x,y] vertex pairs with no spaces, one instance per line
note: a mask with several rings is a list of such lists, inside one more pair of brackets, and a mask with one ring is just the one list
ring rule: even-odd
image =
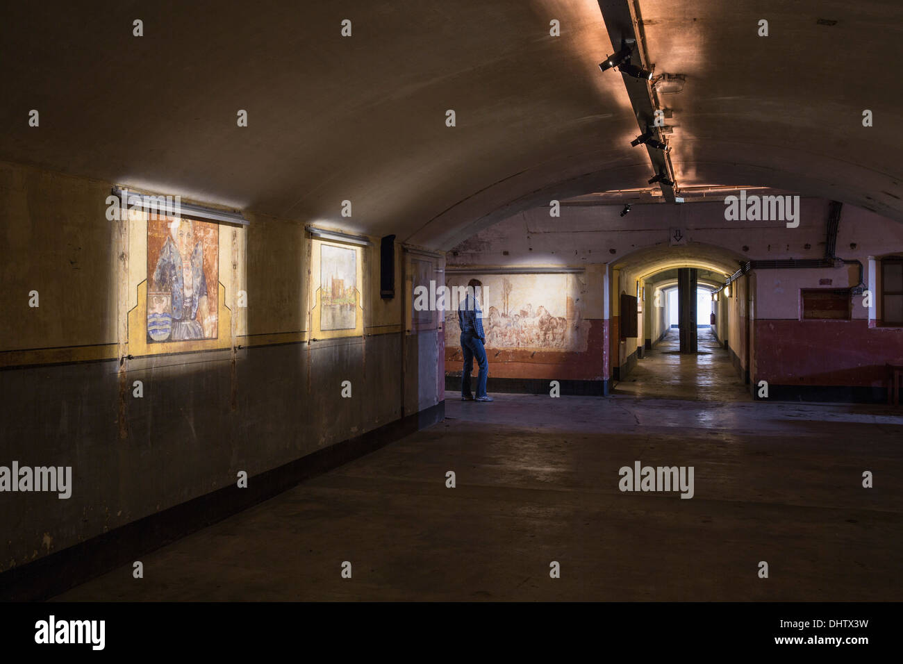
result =
[[[748,304],[740,311],[723,288],[732,274],[733,257],[721,248],[655,247],[636,252],[611,266],[612,393],[636,397],[749,400],[745,370],[749,357],[733,359],[730,335],[749,349]],[[625,292],[637,291],[637,332],[630,339],[623,307]],[[736,289],[736,286],[735,286]],[[744,297],[750,293],[744,289]],[[740,315],[743,313],[744,315]],[[614,331],[613,331],[614,332]],[[738,366],[738,364],[740,366]],[[740,369],[740,370],[738,370]]]

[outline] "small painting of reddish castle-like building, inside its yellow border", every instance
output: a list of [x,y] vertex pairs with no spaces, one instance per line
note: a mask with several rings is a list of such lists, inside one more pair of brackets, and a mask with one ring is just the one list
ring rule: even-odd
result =
[[358,326],[358,260],[353,248],[320,245],[320,329]]

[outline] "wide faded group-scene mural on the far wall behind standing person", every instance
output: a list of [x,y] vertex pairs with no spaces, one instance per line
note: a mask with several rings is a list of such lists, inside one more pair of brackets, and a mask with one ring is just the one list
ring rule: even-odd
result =
[[[587,326],[582,324],[579,295],[571,275],[455,275],[448,285],[483,283],[480,308],[488,348],[535,351],[584,351]],[[460,344],[459,298],[445,313],[445,343]]]

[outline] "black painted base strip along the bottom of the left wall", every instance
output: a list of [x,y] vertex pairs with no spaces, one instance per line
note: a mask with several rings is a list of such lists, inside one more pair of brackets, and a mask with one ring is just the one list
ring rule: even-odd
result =
[[39,601],[123,566],[296,484],[441,422],[445,402],[0,574],[0,601]]

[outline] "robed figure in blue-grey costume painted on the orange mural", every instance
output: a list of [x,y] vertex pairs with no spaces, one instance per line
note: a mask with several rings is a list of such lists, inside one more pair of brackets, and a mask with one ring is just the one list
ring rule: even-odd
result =
[[148,294],[148,336],[151,341],[215,338],[217,321],[209,313],[204,248],[195,238],[194,221],[172,220],[169,231]]

